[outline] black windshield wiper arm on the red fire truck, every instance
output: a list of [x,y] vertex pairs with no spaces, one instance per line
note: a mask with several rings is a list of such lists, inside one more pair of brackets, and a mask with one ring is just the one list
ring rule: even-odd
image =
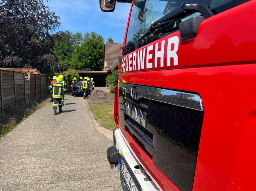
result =
[[164,15],[164,17],[160,18],[156,22],[152,23],[150,25],[150,28],[144,33],[144,35],[139,39],[146,38],[150,34],[153,34],[156,32],[157,29],[160,29],[168,24],[172,24],[178,20],[181,20],[191,14],[194,13],[201,13],[201,15],[204,18],[209,18],[212,17],[214,14],[212,11],[208,8],[208,6],[204,4],[189,4],[189,3],[184,3],[180,6],[178,6],[176,9],[173,11],[169,12],[168,14]]

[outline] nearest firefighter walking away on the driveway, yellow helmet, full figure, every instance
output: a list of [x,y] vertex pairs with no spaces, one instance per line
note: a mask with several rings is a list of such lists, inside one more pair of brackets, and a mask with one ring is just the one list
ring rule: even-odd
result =
[[62,112],[62,92],[63,92],[63,85],[61,83],[61,78],[58,76],[56,78],[56,82],[53,82],[50,86],[50,93],[51,98],[53,98],[53,113],[54,115],[57,114],[57,106],[59,103],[59,113]]

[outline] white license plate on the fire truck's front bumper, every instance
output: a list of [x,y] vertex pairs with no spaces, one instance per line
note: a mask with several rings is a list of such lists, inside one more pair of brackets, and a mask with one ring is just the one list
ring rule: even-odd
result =
[[129,168],[127,162],[125,159],[120,156],[120,169],[124,176],[125,182],[129,190],[131,191],[139,191],[141,189],[138,188],[138,181],[136,180],[136,177],[132,176],[131,169]]

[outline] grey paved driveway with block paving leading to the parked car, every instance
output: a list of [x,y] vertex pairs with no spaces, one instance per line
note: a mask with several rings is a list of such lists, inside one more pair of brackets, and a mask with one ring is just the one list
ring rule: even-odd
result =
[[112,140],[95,127],[85,99],[65,99],[63,113],[54,116],[49,103],[0,139],[1,191],[122,190],[106,159]]

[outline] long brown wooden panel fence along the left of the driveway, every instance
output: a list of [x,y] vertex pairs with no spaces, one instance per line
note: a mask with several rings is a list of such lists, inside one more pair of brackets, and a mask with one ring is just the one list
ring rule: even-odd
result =
[[49,82],[46,75],[29,74],[11,70],[0,70],[0,108],[2,116],[6,109],[31,103],[45,97]]

